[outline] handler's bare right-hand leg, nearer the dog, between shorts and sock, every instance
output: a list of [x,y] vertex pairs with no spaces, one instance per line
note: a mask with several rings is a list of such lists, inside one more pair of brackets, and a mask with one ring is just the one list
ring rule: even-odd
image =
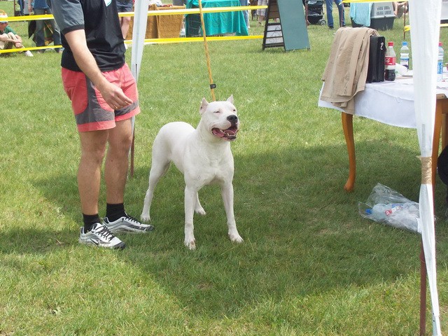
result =
[[106,202],[123,203],[127,179],[128,156],[132,144],[131,119],[119,121],[109,130],[109,148],[106,155],[104,179]]

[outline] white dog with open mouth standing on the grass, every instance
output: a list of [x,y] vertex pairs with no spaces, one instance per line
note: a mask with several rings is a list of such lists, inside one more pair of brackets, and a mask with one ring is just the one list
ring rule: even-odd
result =
[[221,185],[228,234],[231,241],[241,243],[233,213],[233,156],[230,141],[237,139],[239,120],[233,106],[233,96],[225,102],[207,102],[202,99],[202,116],[197,129],[188,123],[169,123],[163,126],[153,144],[153,163],[149,173],[149,187],[146,191],[143,221],[150,221],[151,202],[154,189],[160,177],[168,170],[171,162],[183,173],[185,188],[185,240],[184,244],[196,248],[193,234],[193,214],[205,215],[197,192],[209,184]]

